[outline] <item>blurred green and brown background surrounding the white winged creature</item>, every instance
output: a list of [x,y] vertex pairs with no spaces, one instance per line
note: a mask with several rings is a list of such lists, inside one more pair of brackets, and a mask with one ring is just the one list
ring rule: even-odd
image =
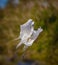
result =
[[[23,52],[11,40],[30,18],[43,32]],[[0,0],[0,65],[58,65],[58,0]]]

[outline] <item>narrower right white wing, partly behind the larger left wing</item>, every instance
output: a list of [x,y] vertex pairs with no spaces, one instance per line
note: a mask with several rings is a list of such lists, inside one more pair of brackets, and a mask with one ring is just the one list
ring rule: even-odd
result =
[[38,30],[34,30],[31,37],[24,43],[25,46],[24,46],[23,50],[26,50],[26,48],[28,48],[28,46],[31,46],[42,31],[43,31],[43,29],[41,27],[38,28]]

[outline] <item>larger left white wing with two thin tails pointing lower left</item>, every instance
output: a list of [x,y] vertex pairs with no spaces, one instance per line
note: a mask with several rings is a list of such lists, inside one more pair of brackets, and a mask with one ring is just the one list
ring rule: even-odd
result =
[[18,48],[22,43],[25,43],[27,39],[32,35],[34,30],[34,22],[29,19],[25,24],[20,25],[20,36],[16,39],[21,39],[21,42],[16,46]]

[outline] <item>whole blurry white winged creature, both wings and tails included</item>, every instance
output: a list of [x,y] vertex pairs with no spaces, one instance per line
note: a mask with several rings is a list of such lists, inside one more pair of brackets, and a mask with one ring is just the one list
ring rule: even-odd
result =
[[16,46],[18,48],[21,44],[24,44],[23,50],[26,50],[28,46],[31,46],[33,42],[37,39],[38,35],[43,31],[40,27],[38,30],[34,30],[34,22],[32,19],[29,19],[27,23],[20,26],[20,36],[18,39],[21,39],[20,43]]

